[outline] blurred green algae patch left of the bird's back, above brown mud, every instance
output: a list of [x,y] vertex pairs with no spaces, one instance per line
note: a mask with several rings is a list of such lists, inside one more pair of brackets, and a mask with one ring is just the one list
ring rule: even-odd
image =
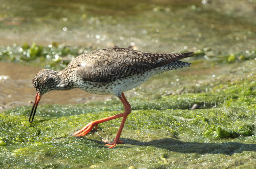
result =
[[30,46],[24,42],[23,45],[0,46],[0,61],[62,70],[76,56],[91,50],[78,46],[61,46],[56,42],[47,47],[36,45],[35,42]]

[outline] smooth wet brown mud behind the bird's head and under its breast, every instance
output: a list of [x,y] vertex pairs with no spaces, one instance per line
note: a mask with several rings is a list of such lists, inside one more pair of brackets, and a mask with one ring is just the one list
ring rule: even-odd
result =
[[[0,62],[0,67],[0,112],[19,106],[32,106],[35,97],[32,78],[41,68],[6,62]],[[80,89],[51,91],[43,96],[40,104],[77,104],[111,97],[90,94]]]

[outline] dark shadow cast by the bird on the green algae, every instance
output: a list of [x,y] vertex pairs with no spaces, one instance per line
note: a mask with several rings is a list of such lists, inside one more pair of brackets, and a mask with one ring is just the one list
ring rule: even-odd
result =
[[[79,138],[79,137],[77,137]],[[80,137],[82,138],[82,137]],[[106,144],[103,141],[87,139],[97,144]],[[166,149],[168,151],[179,153],[197,153],[197,154],[226,154],[232,155],[234,153],[242,153],[244,151],[256,152],[256,144],[238,143],[238,142],[225,142],[225,143],[199,143],[199,142],[186,142],[172,138],[164,138],[159,140],[152,140],[149,142],[137,141],[130,138],[121,139],[125,145],[136,146],[154,146],[156,148]],[[122,146],[123,148],[124,146]],[[125,146],[131,148],[131,146]],[[114,147],[121,148],[121,147]]]

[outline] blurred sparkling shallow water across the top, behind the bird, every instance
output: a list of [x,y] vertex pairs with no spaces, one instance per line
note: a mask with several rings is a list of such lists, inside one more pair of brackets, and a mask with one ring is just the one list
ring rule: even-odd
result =
[[0,45],[52,42],[148,52],[256,48],[255,0],[2,0]]

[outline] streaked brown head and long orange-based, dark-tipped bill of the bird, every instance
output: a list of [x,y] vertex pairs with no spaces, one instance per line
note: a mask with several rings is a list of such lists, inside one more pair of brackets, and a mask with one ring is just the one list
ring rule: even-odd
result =
[[[32,84],[34,88],[36,89],[36,97],[35,101],[33,103],[33,107],[31,110],[31,114],[29,117],[29,122],[32,123],[34,116],[36,114],[36,108],[38,106],[38,103],[43,96],[43,94],[58,89],[58,84],[60,81],[60,77],[57,74],[57,71],[49,70],[49,69],[43,69],[40,70],[33,78]],[[32,116],[33,114],[33,116]],[[32,119],[31,119],[32,117]]]

